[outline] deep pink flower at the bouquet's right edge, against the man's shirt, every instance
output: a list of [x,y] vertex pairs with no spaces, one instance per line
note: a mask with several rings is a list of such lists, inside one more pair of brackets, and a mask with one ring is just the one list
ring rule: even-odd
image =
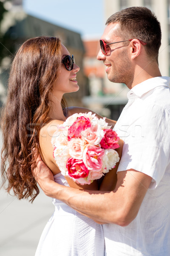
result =
[[119,137],[117,136],[116,132],[112,129],[104,130],[104,137],[102,138],[100,145],[101,148],[119,148]]

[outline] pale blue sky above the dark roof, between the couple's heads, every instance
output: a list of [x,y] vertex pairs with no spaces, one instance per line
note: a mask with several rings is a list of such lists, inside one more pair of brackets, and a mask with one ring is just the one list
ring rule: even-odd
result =
[[66,29],[82,38],[99,38],[105,28],[104,0],[23,0],[29,15]]

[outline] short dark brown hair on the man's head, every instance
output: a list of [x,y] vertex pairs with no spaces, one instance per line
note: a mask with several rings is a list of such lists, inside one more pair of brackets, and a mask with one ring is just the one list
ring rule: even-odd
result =
[[161,26],[157,17],[146,7],[130,7],[111,15],[106,21],[119,23],[120,36],[123,40],[139,39],[147,43],[147,55],[156,58],[158,62],[159,48],[161,46]]

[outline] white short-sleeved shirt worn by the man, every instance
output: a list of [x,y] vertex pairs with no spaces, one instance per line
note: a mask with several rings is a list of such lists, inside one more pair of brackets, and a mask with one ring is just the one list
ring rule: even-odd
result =
[[124,140],[118,172],[152,177],[136,218],[127,226],[103,225],[106,256],[170,255],[170,78],[133,87],[114,130]]

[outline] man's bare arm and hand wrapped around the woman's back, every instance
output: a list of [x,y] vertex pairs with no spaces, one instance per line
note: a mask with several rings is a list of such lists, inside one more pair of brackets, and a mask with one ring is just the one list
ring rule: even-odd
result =
[[65,187],[54,182],[53,175],[40,157],[34,176],[49,197],[57,198],[96,221],[127,226],[136,218],[152,178],[136,170],[118,172],[116,188],[90,191]]

